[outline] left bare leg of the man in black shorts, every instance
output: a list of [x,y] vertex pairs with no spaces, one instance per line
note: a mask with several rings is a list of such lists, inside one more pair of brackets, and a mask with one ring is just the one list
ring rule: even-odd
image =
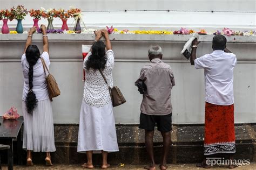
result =
[[156,163],[154,162],[153,136],[154,136],[154,131],[145,130],[145,146],[146,146],[147,154],[150,157],[151,165],[149,167],[144,167],[144,168],[149,170],[156,169]]

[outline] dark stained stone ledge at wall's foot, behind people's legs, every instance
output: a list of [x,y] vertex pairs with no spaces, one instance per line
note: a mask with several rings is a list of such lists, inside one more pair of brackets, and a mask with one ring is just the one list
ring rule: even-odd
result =
[[[204,125],[173,125],[171,132],[171,149],[168,163],[199,162],[203,159]],[[147,154],[144,145],[144,130],[138,125],[116,125],[119,152],[109,154],[111,164],[147,164]],[[256,159],[256,124],[235,125],[236,159]],[[77,153],[78,124],[55,124],[56,152],[52,153],[55,164],[82,164],[86,154]],[[162,138],[156,130],[154,134],[154,152],[157,162],[160,162]],[[24,159],[26,156],[23,152]],[[219,155],[224,157],[225,155]],[[43,164],[45,154],[33,153],[34,162]],[[15,158],[17,159],[17,158]],[[94,154],[96,164],[100,164],[101,155]],[[25,159],[23,160],[25,161]]]

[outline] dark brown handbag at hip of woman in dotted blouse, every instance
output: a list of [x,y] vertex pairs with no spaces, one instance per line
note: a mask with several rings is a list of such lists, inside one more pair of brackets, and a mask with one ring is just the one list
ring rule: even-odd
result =
[[[104,74],[102,73],[102,70],[99,69],[99,73],[102,75],[102,77],[103,77],[104,81],[106,82],[107,86],[109,86],[109,84],[106,81],[106,78],[105,78]],[[110,94],[110,97],[111,97],[113,107],[117,107],[118,105],[121,105],[121,104],[126,102],[122,92],[120,91],[120,89],[117,86],[114,86],[113,88],[111,88],[109,86],[109,94]]]

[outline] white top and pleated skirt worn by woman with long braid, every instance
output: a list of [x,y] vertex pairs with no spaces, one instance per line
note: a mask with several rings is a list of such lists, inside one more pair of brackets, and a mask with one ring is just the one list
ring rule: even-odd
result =
[[[41,57],[49,67],[49,54],[43,52]],[[26,96],[29,90],[29,63],[26,55],[22,55],[21,59],[24,88],[22,95],[22,111],[24,117],[24,133],[23,133],[23,149],[33,152],[54,152],[54,128],[52,105],[49,99],[45,73],[40,59],[33,66],[33,92],[38,100],[33,114],[29,114],[26,110]]]

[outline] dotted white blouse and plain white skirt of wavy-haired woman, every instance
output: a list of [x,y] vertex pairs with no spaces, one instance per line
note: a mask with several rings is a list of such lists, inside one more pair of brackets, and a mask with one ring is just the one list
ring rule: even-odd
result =
[[[86,61],[91,52],[84,59]],[[113,87],[112,70],[114,53],[106,52],[107,62],[103,74],[110,87]],[[117,134],[109,87],[98,70],[86,70],[83,102],[80,110],[77,152],[93,153],[117,152]]]

